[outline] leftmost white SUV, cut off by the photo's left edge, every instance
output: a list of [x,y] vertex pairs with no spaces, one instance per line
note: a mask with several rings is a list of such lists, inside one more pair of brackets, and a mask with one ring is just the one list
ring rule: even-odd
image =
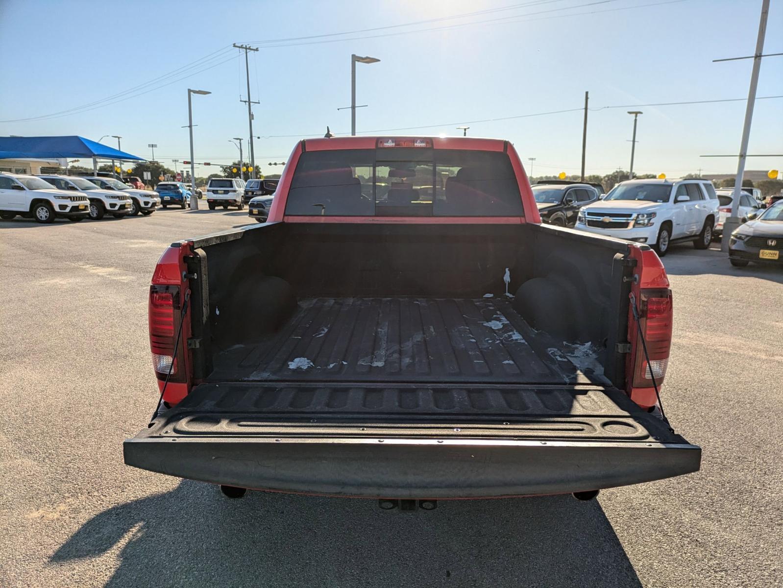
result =
[[34,175],[0,172],[0,218],[9,221],[16,215],[43,223],[57,217],[79,222],[88,215],[87,195],[56,189]]

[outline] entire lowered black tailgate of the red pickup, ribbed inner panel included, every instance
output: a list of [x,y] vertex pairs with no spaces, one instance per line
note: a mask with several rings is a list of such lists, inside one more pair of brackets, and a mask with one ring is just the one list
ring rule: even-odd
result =
[[465,498],[698,471],[702,450],[595,386],[201,384],[124,442],[125,464],[283,492]]

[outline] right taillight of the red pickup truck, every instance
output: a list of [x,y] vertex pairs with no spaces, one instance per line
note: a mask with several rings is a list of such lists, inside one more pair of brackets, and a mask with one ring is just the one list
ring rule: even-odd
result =
[[648,358],[637,333],[635,361],[633,366],[633,388],[653,388],[653,380],[659,390],[666,377],[669,351],[672,346],[673,306],[672,290],[643,289],[638,301],[639,324],[647,343]]

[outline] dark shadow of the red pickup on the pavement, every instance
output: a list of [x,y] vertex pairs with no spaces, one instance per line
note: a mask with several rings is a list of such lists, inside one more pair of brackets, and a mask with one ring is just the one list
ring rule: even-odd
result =
[[641,586],[601,505],[571,496],[403,512],[269,492],[229,500],[185,481],[97,514],[50,562],[118,543],[106,586]]

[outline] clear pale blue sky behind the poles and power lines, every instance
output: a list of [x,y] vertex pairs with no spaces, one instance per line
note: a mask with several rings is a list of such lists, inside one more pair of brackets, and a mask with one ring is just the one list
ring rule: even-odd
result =
[[[94,110],[0,122],[0,135],[122,135],[123,150],[150,158],[147,144],[157,143],[156,159],[171,164],[171,158],[189,159],[181,128],[186,89],[203,88],[212,94],[193,97],[195,159],[229,162],[238,152],[228,139],[248,134],[239,102],[247,93],[244,57],[226,49],[234,42],[261,48],[251,54],[250,71],[252,97],[261,101],[254,105],[254,134],[262,136],[256,162],[265,173],[280,171],[267,163],[283,161],[300,136],[321,136],[327,124],[332,132],[350,132],[349,110],[337,108],[350,104],[352,52],[381,59],[357,65],[357,103],[369,104],[357,110],[360,133],[434,125],[377,134],[453,135],[464,121],[579,109],[585,90],[591,108],[745,98],[752,60],[712,60],[752,55],[761,0],[659,2],[0,0],[0,120],[73,109],[161,78],[117,99],[150,92]],[[477,14],[436,20],[464,13]],[[429,22],[269,42],[420,21]],[[280,46],[291,42],[309,44]],[[783,0],[771,2],[765,52],[783,52]],[[758,96],[780,95],[783,56],[770,57],[763,60]],[[626,110],[634,109],[590,111],[588,173],[628,168],[632,117]],[[744,100],[638,110],[644,114],[635,171],[674,177],[698,168],[736,170],[736,159],[698,156],[738,152]],[[579,111],[467,124],[470,135],[510,139],[522,157],[536,157],[534,175],[579,172]],[[114,139],[104,142],[116,146]],[[756,103],[749,153],[783,153],[783,99]],[[748,166],[773,167],[783,168],[783,158],[753,158]],[[201,168],[197,175],[210,171],[217,170]]]

